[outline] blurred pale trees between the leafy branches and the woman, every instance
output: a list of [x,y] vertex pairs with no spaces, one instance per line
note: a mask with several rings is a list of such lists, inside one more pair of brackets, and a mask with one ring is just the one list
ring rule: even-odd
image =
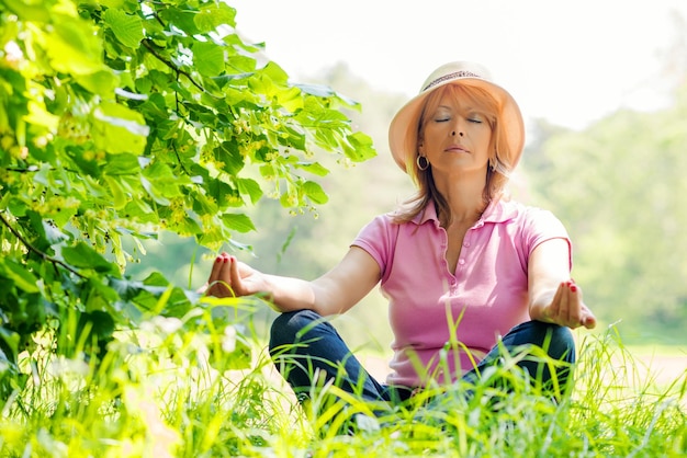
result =
[[[331,268],[346,253],[358,231],[374,215],[393,210],[414,193],[410,179],[394,162],[387,147],[388,122],[405,103],[403,94],[390,94],[370,87],[359,76],[338,64],[322,73],[301,77],[304,81],[325,84],[363,102],[360,111],[345,110],[353,126],[373,139],[379,156],[363,163],[352,164],[346,173],[323,176],[320,184],[329,194],[327,205],[312,211],[290,211],[284,216],[279,202],[261,199],[247,213],[256,230],[241,233],[237,239],[248,248],[236,245],[234,254],[251,266],[269,273],[300,278],[315,278]],[[335,157],[324,157],[320,163],[334,163]],[[192,240],[184,241],[165,234],[160,240],[144,242],[147,254],[139,264],[129,264],[127,272],[134,277],[142,272],[161,271],[168,278],[179,282],[193,279],[200,285],[207,275],[207,266],[193,265]],[[183,265],[169,263],[170,252]],[[386,299],[374,289],[346,313],[337,318],[337,330],[352,347],[388,348],[393,340],[386,320]],[[261,309],[251,313],[256,330],[266,336],[275,313]]]

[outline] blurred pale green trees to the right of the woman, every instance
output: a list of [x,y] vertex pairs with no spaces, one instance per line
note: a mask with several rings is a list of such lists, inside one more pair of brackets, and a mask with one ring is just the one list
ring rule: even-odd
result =
[[679,342],[687,322],[685,89],[667,110],[556,131],[528,160],[532,188],[573,237],[586,301],[628,341]]

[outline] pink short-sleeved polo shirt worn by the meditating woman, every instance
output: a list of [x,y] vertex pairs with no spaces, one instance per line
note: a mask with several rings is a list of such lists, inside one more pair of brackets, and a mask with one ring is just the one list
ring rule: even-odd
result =
[[444,382],[447,371],[455,380],[473,367],[471,357],[478,363],[499,336],[528,321],[528,259],[554,238],[570,244],[550,211],[495,201],[465,233],[453,275],[433,205],[403,225],[388,214],[375,217],[352,245],[378,262],[388,298],[394,357],[387,383]]

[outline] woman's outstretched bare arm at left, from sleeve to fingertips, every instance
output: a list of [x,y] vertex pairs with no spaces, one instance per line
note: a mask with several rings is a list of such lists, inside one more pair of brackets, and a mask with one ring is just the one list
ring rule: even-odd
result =
[[282,312],[312,309],[322,316],[344,313],[380,280],[380,267],[367,251],[351,247],[331,271],[307,282],[263,274],[226,253],[213,264],[206,293],[216,297],[268,295]]

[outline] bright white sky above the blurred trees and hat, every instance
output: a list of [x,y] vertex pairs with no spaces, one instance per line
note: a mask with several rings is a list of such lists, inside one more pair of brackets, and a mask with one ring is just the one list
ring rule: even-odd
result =
[[345,62],[410,96],[439,65],[476,60],[526,117],[574,128],[621,106],[664,106],[662,55],[675,16],[687,21],[687,0],[227,1],[238,31],[295,81]]

